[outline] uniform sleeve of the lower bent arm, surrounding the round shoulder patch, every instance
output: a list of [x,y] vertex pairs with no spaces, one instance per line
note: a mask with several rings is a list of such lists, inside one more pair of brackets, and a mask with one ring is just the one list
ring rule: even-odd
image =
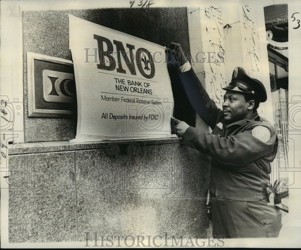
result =
[[275,157],[275,148],[277,150],[278,141],[276,131],[267,127],[270,136],[268,141],[263,142],[256,137],[256,134],[253,135],[254,132],[252,133],[252,131],[255,127],[250,127],[250,130],[229,137],[221,137],[189,127],[182,139],[183,141],[192,142],[200,152],[226,164],[241,165],[265,155],[274,155]]

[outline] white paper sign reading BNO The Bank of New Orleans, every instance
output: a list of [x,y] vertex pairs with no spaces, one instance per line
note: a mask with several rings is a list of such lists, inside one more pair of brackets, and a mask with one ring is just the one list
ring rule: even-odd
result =
[[76,139],[171,135],[173,96],[160,45],[69,15]]

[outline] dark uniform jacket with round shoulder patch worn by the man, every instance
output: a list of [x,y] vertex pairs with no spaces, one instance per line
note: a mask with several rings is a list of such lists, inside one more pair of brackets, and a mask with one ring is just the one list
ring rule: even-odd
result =
[[209,98],[194,71],[190,69],[179,76],[191,105],[213,130],[208,133],[189,127],[182,137],[212,157],[210,191],[232,200],[262,199],[270,180],[270,162],[277,152],[278,139],[272,124],[259,117],[257,111],[227,124],[222,110]]

